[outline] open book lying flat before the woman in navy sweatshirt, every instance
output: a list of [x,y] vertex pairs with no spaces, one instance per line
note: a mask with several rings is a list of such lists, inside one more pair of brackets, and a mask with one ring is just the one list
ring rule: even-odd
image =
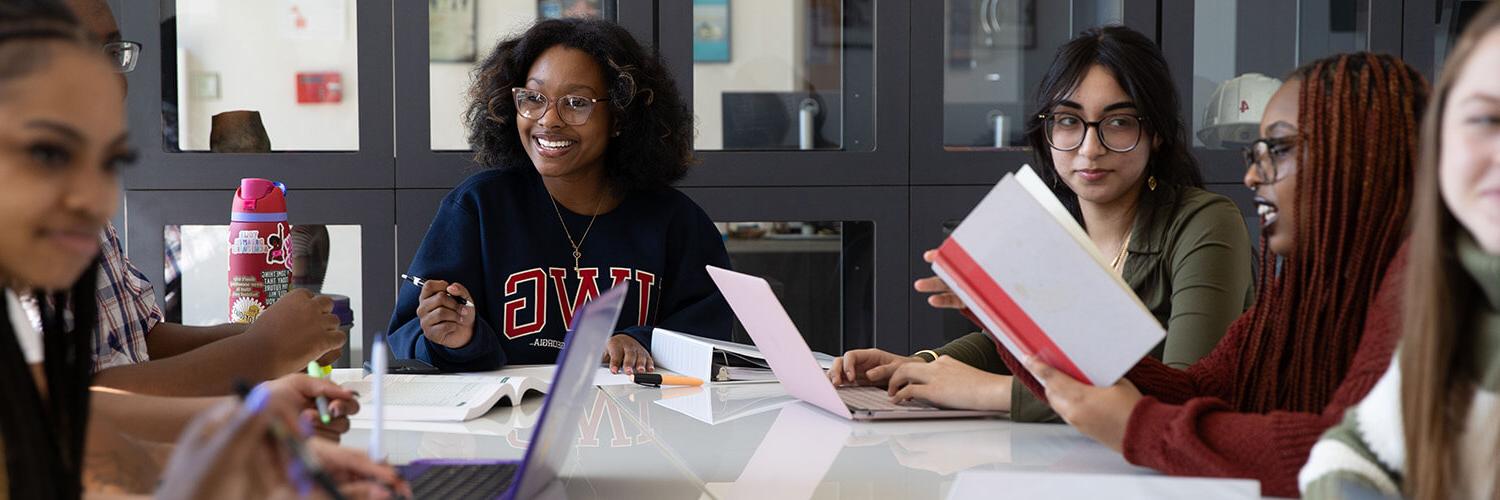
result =
[[[387,420],[466,422],[477,419],[496,404],[516,405],[526,395],[549,390],[556,365],[507,366],[472,374],[386,375]],[[360,392],[360,405],[370,407],[374,390],[370,377],[342,383]],[[594,384],[627,384],[628,377],[598,368]],[[364,413],[352,419],[368,417]]]

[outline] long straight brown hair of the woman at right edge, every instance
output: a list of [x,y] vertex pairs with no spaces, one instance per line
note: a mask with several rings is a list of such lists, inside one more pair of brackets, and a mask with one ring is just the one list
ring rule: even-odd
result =
[[[1458,219],[1443,203],[1438,188],[1442,165],[1443,107],[1467,68],[1479,41],[1500,30],[1500,5],[1490,3],[1470,21],[1437,81],[1432,104],[1422,123],[1422,159],[1412,215],[1412,255],[1402,297],[1404,338],[1396,356],[1401,363],[1401,422],[1406,437],[1406,494],[1413,498],[1448,498],[1456,477],[1454,453],[1474,395],[1478,368],[1470,335],[1479,284],[1460,267],[1454,252]],[[1462,489],[1460,489],[1462,491]],[[1496,489],[1491,497],[1500,497]]]

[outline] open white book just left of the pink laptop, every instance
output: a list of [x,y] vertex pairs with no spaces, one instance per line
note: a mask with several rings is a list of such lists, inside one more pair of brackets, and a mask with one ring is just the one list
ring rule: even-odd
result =
[[[834,365],[832,356],[813,353],[813,357],[824,369]],[[754,345],[668,329],[651,330],[651,359],[657,368],[710,383],[776,381],[771,365],[765,363],[765,354]]]

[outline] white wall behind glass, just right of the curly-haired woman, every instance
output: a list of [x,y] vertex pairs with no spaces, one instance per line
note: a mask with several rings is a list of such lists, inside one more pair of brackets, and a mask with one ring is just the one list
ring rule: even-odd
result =
[[693,63],[696,149],[723,149],[720,96],[724,92],[795,92],[804,87],[806,18],[804,2],[798,0],[729,3],[729,63]]

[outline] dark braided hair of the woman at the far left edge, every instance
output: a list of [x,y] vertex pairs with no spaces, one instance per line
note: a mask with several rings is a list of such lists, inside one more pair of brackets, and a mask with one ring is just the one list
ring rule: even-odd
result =
[[[48,42],[98,50],[72,12],[50,0],[0,3],[0,87],[45,68]],[[102,56],[100,56],[102,57]],[[0,308],[0,441],[4,444],[10,498],[78,498],[88,422],[92,345],[98,311],[98,264],[64,294],[34,294],[44,306],[42,342],[46,398],[38,392],[21,345]],[[68,303],[68,300],[72,303]],[[26,318],[20,318],[27,321]]]

